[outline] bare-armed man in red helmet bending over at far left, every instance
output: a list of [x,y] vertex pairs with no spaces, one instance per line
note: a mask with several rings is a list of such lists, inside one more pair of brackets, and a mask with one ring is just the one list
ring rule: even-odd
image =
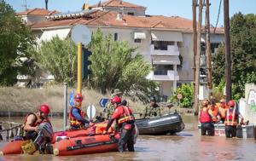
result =
[[49,106],[42,104],[38,107],[38,112],[30,112],[26,115],[24,124],[22,126],[23,136],[26,140],[34,141],[38,136],[38,125],[42,123],[49,123]]

